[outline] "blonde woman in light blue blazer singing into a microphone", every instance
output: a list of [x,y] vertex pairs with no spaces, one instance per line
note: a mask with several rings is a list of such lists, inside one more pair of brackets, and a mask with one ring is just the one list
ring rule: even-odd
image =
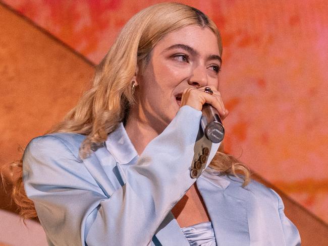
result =
[[21,182],[14,195],[49,245],[300,244],[280,197],[199,131],[204,103],[228,115],[221,55],[215,24],[189,6],[126,24],[93,87],[25,150],[27,197]]

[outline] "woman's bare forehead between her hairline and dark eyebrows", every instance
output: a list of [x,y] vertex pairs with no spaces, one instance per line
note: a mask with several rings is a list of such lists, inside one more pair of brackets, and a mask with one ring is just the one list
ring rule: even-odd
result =
[[154,51],[160,52],[160,50],[175,44],[188,45],[196,49],[200,54],[219,55],[218,40],[208,27],[189,25],[170,32],[158,41]]

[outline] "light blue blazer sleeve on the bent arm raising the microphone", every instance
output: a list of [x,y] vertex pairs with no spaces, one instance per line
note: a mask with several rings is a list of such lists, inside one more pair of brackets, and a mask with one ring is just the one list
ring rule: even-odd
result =
[[[201,111],[183,106],[152,140],[125,184],[99,186],[69,144],[42,136],[28,145],[23,180],[48,241],[53,245],[148,245],[156,229],[194,183],[190,165]],[[212,147],[213,157],[218,145]],[[208,161],[208,162],[209,162]]]

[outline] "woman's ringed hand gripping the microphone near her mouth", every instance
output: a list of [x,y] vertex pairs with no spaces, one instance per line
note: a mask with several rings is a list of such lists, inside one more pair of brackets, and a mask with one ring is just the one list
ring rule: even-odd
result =
[[182,93],[180,107],[184,105],[189,105],[197,110],[201,110],[204,103],[211,104],[220,114],[221,119],[227,117],[229,111],[225,108],[223,104],[221,93],[212,89],[213,94],[209,94],[204,91],[205,87],[186,88]]

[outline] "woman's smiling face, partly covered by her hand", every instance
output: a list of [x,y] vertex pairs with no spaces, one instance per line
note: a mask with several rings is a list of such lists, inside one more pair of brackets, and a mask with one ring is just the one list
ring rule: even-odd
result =
[[184,89],[218,89],[220,67],[217,38],[209,28],[190,25],[167,34],[137,73],[139,117],[161,132],[178,112]]

